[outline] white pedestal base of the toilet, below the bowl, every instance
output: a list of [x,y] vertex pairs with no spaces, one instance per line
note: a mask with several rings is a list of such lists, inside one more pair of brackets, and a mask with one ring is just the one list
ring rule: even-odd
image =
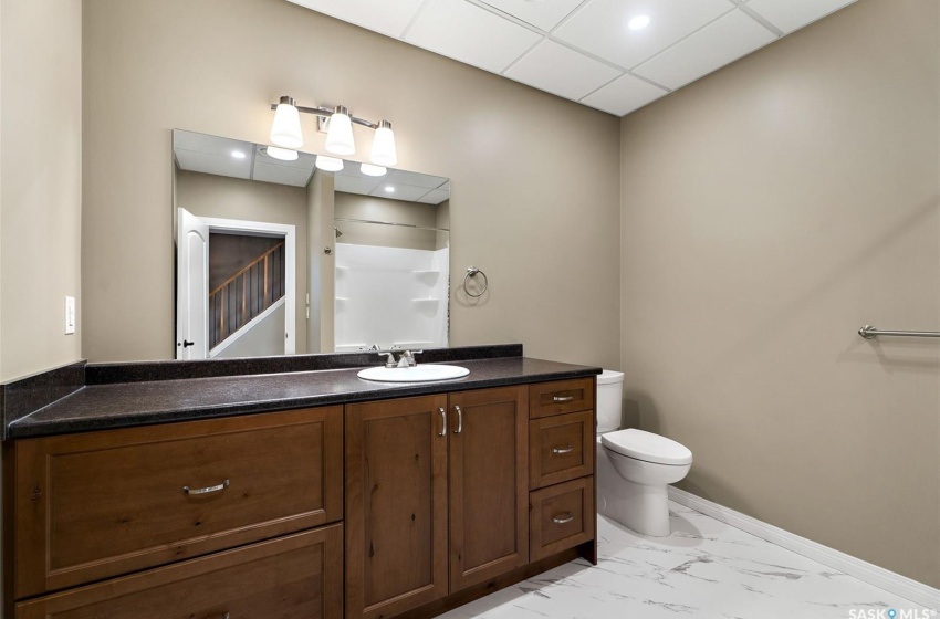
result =
[[597,511],[604,516],[640,535],[666,537],[671,533],[667,487],[624,479],[604,450],[597,450]]

